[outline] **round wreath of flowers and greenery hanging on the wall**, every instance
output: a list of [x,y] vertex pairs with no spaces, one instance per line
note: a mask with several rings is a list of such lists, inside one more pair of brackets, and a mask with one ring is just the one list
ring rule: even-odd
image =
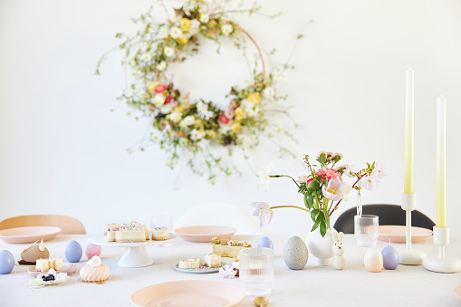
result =
[[[214,169],[227,176],[233,171],[238,172],[238,169],[226,167],[222,157],[211,150],[210,144],[224,146],[232,155],[232,146],[245,152],[245,149],[257,145],[258,133],[261,132],[269,138],[274,136],[274,132],[283,132],[284,136],[293,139],[289,131],[280,127],[267,131],[270,125],[275,127],[268,119],[269,113],[287,113],[286,107],[277,104],[277,101],[286,100],[286,96],[277,95],[274,83],[280,81],[282,73],[293,69],[293,66],[284,63],[274,72],[266,73],[264,54],[255,39],[228,18],[231,13],[255,14],[261,7],[254,4],[246,10],[229,10],[227,2],[229,0],[217,1],[211,7],[201,0],[187,0],[185,5],[175,9],[174,16],[167,23],[158,23],[149,11],[134,20],[142,26],[135,36],[116,34],[116,37],[124,39],[117,47],[126,51],[122,65],[130,68],[134,78],[130,90],[125,91],[119,100],[153,118],[154,131],[150,140],[168,152],[167,165],[170,168],[178,164],[181,153],[187,153],[187,166],[194,173],[204,175],[203,168],[197,165],[197,154],[200,154],[198,156],[203,158],[208,168],[207,176],[211,183],[216,179]],[[163,5],[162,2],[160,4]],[[230,39],[244,52],[246,39],[249,39],[259,54],[255,67],[249,67],[252,80],[246,82],[245,87],[231,87],[226,95],[230,102],[225,110],[219,109],[213,101],[190,101],[188,92],[185,94],[175,87],[174,75],[168,70],[170,63],[184,62],[187,56],[198,53],[200,37],[213,40],[219,46],[221,39]],[[298,39],[301,37],[298,35]],[[98,62],[96,74],[99,74],[105,55]],[[266,108],[268,103],[272,104],[272,110]],[[282,152],[287,151],[281,146],[279,148]]]

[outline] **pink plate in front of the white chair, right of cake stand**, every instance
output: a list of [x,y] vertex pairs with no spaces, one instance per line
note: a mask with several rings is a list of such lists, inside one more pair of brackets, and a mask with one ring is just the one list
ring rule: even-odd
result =
[[222,239],[230,239],[237,231],[234,227],[227,226],[188,226],[175,230],[176,234],[183,240],[190,242],[207,242],[219,236]]

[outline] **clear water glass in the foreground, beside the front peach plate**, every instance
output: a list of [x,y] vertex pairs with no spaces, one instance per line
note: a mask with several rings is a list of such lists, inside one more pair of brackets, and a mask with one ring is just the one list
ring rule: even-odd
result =
[[271,294],[274,280],[274,250],[266,247],[245,248],[239,253],[239,278],[246,295]]

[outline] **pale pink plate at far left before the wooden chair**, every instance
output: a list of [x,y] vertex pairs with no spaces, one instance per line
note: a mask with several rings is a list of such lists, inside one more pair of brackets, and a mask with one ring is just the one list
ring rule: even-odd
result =
[[34,243],[37,240],[51,240],[59,232],[60,227],[33,226],[17,227],[0,230],[0,239],[6,243]]

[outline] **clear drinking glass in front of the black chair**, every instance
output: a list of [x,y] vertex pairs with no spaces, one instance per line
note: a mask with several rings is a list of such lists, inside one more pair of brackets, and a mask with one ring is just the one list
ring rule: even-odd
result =
[[375,246],[379,236],[379,216],[354,216],[354,234],[357,246]]

